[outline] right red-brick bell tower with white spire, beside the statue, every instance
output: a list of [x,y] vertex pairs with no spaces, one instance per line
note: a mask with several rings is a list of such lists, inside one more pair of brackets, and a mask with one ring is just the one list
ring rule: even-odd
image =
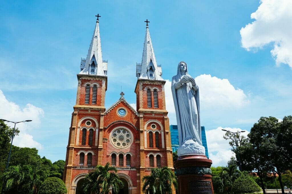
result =
[[[145,22],[147,24],[142,62],[136,63],[136,77],[138,79],[135,87],[137,112],[140,115],[141,182],[142,177],[149,174],[147,168],[153,166],[151,163],[152,154],[157,158],[155,153],[163,153],[165,165],[173,169],[169,119],[165,106],[164,84],[166,81],[161,77],[161,65],[157,65],[155,59],[148,27],[149,21]],[[157,139],[161,142],[160,145],[157,145]],[[158,164],[157,167],[159,167]]]

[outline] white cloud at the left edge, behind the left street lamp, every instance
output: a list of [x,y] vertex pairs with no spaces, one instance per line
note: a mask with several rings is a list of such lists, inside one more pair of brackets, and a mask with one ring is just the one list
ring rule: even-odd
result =
[[[42,149],[39,142],[33,140],[33,136],[28,133],[31,129],[37,129],[41,123],[40,117],[44,111],[32,104],[27,104],[23,109],[19,105],[10,102],[6,99],[3,92],[0,90],[0,118],[9,121],[24,121],[32,120],[32,122],[18,123],[16,127],[20,130],[19,136],[13,140],[13,144],[19,147],[35,147]],[[7,123],[10,127],[14,127],[13,123]]]

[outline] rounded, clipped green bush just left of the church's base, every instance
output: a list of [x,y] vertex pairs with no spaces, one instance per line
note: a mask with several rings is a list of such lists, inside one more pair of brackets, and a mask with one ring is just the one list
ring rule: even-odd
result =
[[67,193],[67,188],[64,182],[57,177],[47,178],[39,190],[39,194],[64,194]]

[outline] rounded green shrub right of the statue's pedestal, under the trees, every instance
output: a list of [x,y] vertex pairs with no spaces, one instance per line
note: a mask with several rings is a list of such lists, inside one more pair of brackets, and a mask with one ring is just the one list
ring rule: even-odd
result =
[[232,185],[232,192],[237,194],[255,193],[259,191],[260,187],[258,184],[246,174],[240,175]]

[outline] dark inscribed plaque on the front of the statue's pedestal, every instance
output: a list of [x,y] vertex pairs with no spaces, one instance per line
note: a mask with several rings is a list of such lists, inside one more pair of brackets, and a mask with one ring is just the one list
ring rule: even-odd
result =
[[211,181],[190,181],[191,194],[212,194]]

